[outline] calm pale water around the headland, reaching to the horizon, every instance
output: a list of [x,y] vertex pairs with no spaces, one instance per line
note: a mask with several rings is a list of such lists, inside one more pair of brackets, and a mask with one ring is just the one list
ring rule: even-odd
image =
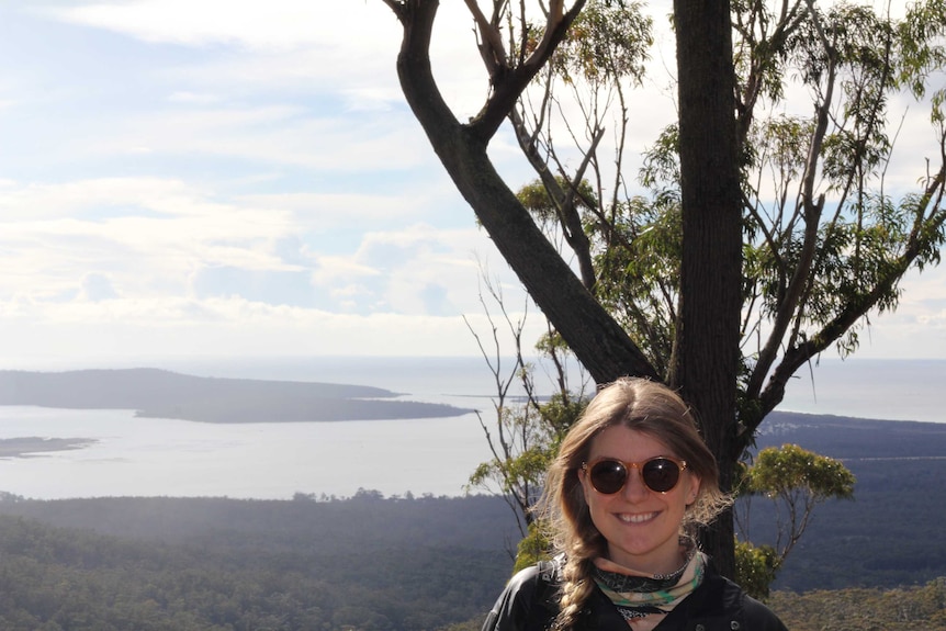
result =
[[[143,364],[137,364],[143,365]],[[150,362],[190,374],[365,384],[404,398],[484,410],[491,375],[480,359]],[[79,368],[79,367],[66,367]],[[85,367],[88,368],[88,367]],[[111,365],[110,368],[122,368]],[[890,420],[946,420],[946,361],[822,362],[792,381],[780,409]],[[578,375],[574,379],[577,381]],[[475,415],[443,419],[210,425],[135,418],[132,410],[0,406],[0,438],[91,438],[83,449],[0,459],[0,491],[35,498],[228,496],[290,498],[460,495],[489,452]]]

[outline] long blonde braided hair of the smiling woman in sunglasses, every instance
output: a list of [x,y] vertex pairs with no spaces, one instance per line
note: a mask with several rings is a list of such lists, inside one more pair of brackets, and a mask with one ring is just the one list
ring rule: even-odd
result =
[[692,412],[674,391],[638,378],[604,386],[562,441],[547,472],[540,502],[555,548],[566,560],[555,624],[559,629],[574,624],[594,590],[594,559],[607,552],[607,541],[592,521],[578,472],[588,459],[592,440],[613,426],[660,440],[700,480],[699,493],[687,506],[680,525],[682,534],[696,534],[698,526],[712,521],[731,503],[720,491],[716,459],[699,435]]

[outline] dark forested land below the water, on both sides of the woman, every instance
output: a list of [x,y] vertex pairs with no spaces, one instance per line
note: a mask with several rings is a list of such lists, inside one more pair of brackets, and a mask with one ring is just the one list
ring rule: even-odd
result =
[[[776,414],[767,428],[759,448],[799,443],[857,476],[779,574],[789,628],[946,629],[946,425]],[[764,542],[772,515],[753,502]],[[517,539],[488,496],[4,494],[0,629],[473,631]]]

